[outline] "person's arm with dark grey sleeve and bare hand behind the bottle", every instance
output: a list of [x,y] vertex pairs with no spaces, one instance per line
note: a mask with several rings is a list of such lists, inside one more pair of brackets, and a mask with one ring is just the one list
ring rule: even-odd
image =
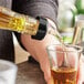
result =
[[[56,21],[57,1],[56,0],[13,0],[13,10],[31,17],[48,17]],[[50,64],[46,46],[55,42],[54,36],[46,34],[41,41],[33,40],[31,35],[18,34],[21,45],[40,63],[46,82],[50,78]]]

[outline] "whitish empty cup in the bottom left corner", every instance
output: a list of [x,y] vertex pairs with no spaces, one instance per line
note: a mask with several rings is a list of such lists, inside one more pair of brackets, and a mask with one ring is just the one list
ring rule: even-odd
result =
[[0,60],[0,84],[15,84],[17,71],[14,63]]

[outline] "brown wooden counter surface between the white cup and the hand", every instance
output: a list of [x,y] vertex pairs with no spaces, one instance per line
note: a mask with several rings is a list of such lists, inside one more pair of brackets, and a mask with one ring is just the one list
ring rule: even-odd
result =
[[39,64],[23,62],[18,66],[17,84],[46,84]]

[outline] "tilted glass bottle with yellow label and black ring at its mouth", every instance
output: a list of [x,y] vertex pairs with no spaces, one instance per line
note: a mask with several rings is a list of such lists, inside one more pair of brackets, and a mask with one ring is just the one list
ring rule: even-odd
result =
[[46,33],[45,18],[32,18],[0,7],[0,29],[27,33],[33,39],[43,39]]

